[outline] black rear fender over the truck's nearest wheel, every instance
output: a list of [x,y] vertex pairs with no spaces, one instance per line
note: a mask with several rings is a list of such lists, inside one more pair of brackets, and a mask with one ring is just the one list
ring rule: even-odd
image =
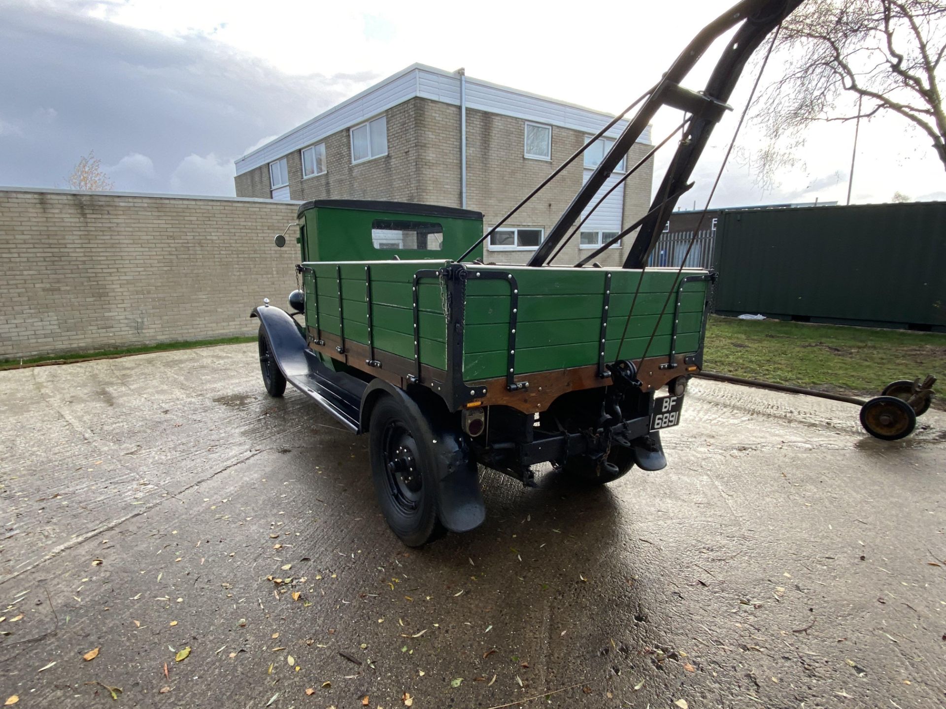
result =
[[463,434],[452,426],[443,412],[432,404],[412,399],[406,391],[382,379],[374,379],[361,397],[360,429],[367,431],[371,411],[382,396],[393,396],[403,406],[427,458],[435,466],[440,521],[450,531],[464,532],[479,527],[486,517],[480,492],[477,464],[470,455]]

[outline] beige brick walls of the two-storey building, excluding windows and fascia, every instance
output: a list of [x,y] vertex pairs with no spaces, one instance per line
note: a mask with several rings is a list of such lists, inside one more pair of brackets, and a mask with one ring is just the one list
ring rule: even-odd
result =
[[[388,154],[353,165],[349,131],[328,136],[325,174],[302,179],[299,151],[287,156],[292,199],[395,199],[460,206],[460,108],[414,97],[387,112]],[[466,205],[483,213],[484,226],[493,226],[556,166],[585,143],[585,133],[552,127],[552,161],[524,157],[524,121],[498,113],[466,111]],[[627,156],[636,164],[649,146],[636,145]],[[640,168],[624,183],[624,227],[643,216],[650,205],[653,164]],[[508,223],[510,227],[542,227],[546,233],[581,188],[579,159],[559,175]],[[240,197],[269,197],[269,166],[236,176]],[[262,186],[261,186],[262,185]],[[620,266],[633,239],[620,249],[601,254],[603,266]],[[576,235],[555,264],[569,266],[588,251],[579,250]],[[488,262],[525,263],[533,251],[485,251]]]

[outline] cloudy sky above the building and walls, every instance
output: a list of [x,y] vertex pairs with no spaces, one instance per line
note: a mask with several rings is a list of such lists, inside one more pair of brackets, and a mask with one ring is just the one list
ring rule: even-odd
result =
[[[3,0],[0,184],[64,186],[95,150],[118,190],[232,195],[236,158],[414,61],[617,112],[730,4]],[[655,138],[677,121],[658,115]],[[735,122],[714,133],[685,206],[703,206]],[[731,160],[713,203],[843,203],[852,140],[851,125],[813,130],[768,192]],[[758,145],[751,128],[741,145]],[[946,199],[946,173],[902,121],[862,124],[852,201],[898,190]]]

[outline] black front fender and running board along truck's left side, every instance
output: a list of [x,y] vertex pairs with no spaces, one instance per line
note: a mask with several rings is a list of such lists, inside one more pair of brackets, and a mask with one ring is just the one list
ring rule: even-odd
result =
[[286,381],[322,406],[348,430],[361,432],[361,396],[367,383],[345,372],[333,372],[308,349],[306,338],[289,314],[274,305],[254,308],[270,338],[270,348]]

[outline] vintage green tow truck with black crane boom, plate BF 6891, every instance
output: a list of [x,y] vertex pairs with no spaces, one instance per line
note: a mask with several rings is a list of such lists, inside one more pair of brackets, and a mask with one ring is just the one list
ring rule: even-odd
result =
[[[405,544],[482,522],[478,464],[527,484],[542,462],[591,484],[666,465],[660,430],[679,423],[702,366],[715,276],[647,259],[745,61],[799,3],[743,0],[700,32],[628,108],[639,104],[526,266],[482,263],[483,240],[504,220],[484,233],[478,212],[346,199],[299,208],[291,313],[268,301],[253,310],[263,381],[272,396],[293,385],[368,434],[381,510]],[[732,28],[706,90],[680,86]],[[549,266],[661,106],[684,112],[684,129],[651,209],[618,236],[639,229],[623,268],[591,257]]]

